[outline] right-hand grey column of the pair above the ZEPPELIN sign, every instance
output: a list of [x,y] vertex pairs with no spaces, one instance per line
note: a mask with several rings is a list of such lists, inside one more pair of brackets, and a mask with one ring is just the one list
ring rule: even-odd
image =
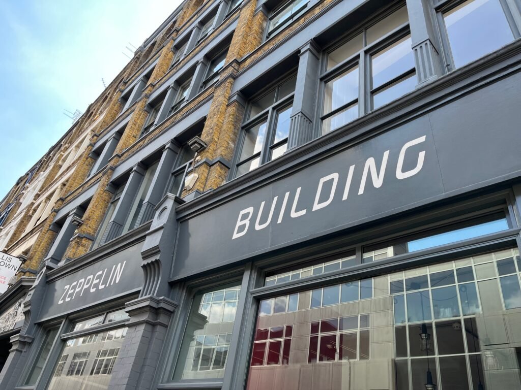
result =
[[139,225],[151,220],[154,217],[155,207],[163,197],[165,188],[172,173],[173,164],[175,164],[179,154],[179,145],[175,141],[170,141],[165,145],[161,160],[157,166],[156,173],[152,179],[152,184],[148,189],[145,201],[141,207],[138,218]]

